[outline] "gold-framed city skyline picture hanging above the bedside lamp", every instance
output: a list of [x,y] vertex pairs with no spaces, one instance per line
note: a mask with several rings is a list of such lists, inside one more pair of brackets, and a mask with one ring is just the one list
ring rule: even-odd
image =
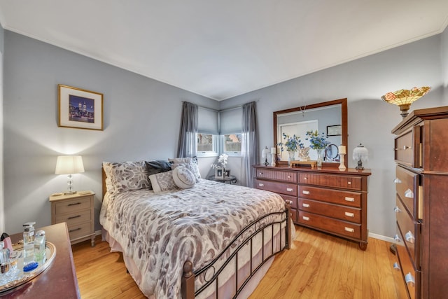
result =
[[59,127],[103,130],[103,94],[57,85]]

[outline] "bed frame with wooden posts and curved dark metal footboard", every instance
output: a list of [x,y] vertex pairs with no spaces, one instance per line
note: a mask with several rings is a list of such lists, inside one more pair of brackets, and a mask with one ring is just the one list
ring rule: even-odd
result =
[[[104,198],[104,195],[106,194],[106,173],[104,172],[104,169],[102,169],[102,186],[103,186],[103,198]],[[266,225],[261,224],[263,219],[267,218],[268,216],[275,215],[275,214],[277,214],[277,215],[285,214],[285,216],[281,217],[283,219],[281,221],[276,221],[274,223],[268,223]],[[246,284],[248,284],[248,281],[251,279],[251,277],[253,277],[255,275],[255,273],[258,270],[260,270],[262,265],[265,265],[265,263],[267,263],[267,261],[270,258],[272,258],[272,256],[275,256],[277,253],[280,253],[284,249],[290,249],[290,244],[291,244],[290,223],[291,223],[290,222],[290,202],[286,201],[285,209],[283,211],[274,212],[274,213],[270,213],[265,216],[262,216],[262,217],[258,218],[256,221],[253,221],[253,223],[251,223],[246,228],[244,228],[244,230],[239,232],[239,234],[235,237],[235,239],[233,239],[233,241],[223,250],[223,252],[220,255],[216,256],[216,258],[214,260],[212,260],[211,263],[209,263],[209,265],[206,265],[202,269],[193,271],[193,263],[191,263],[190,260],[187,260],[183,264],[183,275],[182,275],[182,285],[181,285],[182,298],[183,299],[193,299],[193,298],[195,298],[196,295],[202,293],[202,291],[204,291],[204,289],[211,286],[212,284],[215,284],[216,299],[219,299],[218,298],[219,274],[221,274],[221,272],[223,272],[225,266],[228,265],[228,263],[230,263],[230,261],[232,261],[233,258],[236,258],[235,275],[233,275],[233,277],[235,277],[235,286],[236,286],[234,298],[237,298],[237,295],[239,295],[239,293],[241,293],[244,286],[246,286]],[[279,239],[274,238],[274,226],[275,225],[279,225]],[[284,226],[284,228],[282,228],[282,225]],[[253,250],[253,237],[258,235],[258,233],[260,233],[260,232],[262,235],[262,244],[265,244],[265,237],[264,237],[263,230],[265,230],[266,228],[271,228],[270,230],[272,231],[272,237],[271,237],[271,242],[270,242],[271,250],[269,251],[269,252],[271,252],[271,254],[269,254],[268,256],[265,256],[265,246],[262,246],[262,253],[261,253],[262,261],[260,262],[259,265],[257,265],[255,267],[252,263],[252,260],[250,260],[250,268],[251,268],[250,274],[241,283],[241,286],[238,287],[238,282],[237,282],[238,281],[237,270],[239,268],[238,254],[241,251],[241,249],[243,248],[243,246],[245,246],[246,244],[251,246],[251,253],[252,253],[253,252],[252,251]],[[251,232],[251,231],[253,231],[253,232]],[[251,233],[249,234],[248,232],[251,232]],[[243,235],[247,235],[247,236],[245,236],[245,238],[241,241],[240,238]],[[238,243],[235,243],[235,242],[238,242]],[[276,244],[276,242],[279,242],[279,246],[274,246],[274,244]],[[282,242],[284,242],[283,246],[281,246]],[[228,260],[225,260],[225,262],[223,263],[223,265],[221,265],[221,267],[216,268],[215,264],[218,262],[219,258],[234,244],[239,244],[239,245],[234,249],[232,254],[229,256]],[[252,256],[252,254],[251,254],[251,256]],[[199,288],[197,291],[195,291],[196,277],[199,277],[201,274],[206,273],[207,270],[213,271],[214,275],[212,277],[210,277],[209,279],[207,279],[207,282],[201,288]]]

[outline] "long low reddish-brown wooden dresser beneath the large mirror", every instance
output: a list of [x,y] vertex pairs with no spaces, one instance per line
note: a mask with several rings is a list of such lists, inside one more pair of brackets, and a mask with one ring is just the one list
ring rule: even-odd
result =
[[367,178],[370,169],[255,165],[253,186],[290,202],[294,223],[359,242],[367,248]]

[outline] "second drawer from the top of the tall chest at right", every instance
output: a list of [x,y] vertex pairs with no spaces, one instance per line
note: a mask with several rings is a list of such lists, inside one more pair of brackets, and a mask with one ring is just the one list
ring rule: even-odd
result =
[[419,202],[421,195],[419,188],[419,174],[410,172],[409,170],[397,166],[396,167],[395,188],[397,195],[405,204],[409,213],[416,219],[421,219],[421,212],[419,210]]

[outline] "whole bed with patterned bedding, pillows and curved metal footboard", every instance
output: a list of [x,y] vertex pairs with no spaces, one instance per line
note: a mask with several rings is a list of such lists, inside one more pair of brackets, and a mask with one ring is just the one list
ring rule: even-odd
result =
[[103,179],[103,238],[148,298],[245,298],[289,249],[288,203],[201,179],[191,158],[104,162]]

